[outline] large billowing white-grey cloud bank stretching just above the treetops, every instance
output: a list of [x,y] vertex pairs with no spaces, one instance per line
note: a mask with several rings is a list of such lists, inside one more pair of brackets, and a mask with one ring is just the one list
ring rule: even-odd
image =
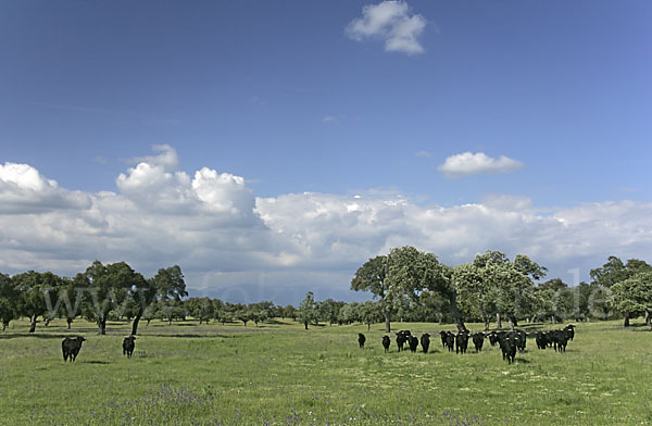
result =
[[0,272],[73,275],[99,259],[152,275],[179,264],[191,288],[214,297],[298,303],[309,289],[348,297],[358,266],[403,245],[453,265],[487,249],[526,253],[566,281],[568,270],[588,277],[611,254],[652,259],[650,203],[541,210],[526,197],[492,195],[444,208],[380,191],[255,198],[242,177],[165,167],[141,162],[117,177],[117,192],[79,193],[7,163]]

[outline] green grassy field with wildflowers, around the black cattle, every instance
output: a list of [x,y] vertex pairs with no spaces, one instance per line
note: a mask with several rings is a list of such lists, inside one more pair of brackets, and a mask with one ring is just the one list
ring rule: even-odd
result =
[[[392,324],[435,335],[437,324]],[[446,328],[446,327],[443,327]],[[450,327],[448,327],[450,329]],[[469,328],[480,329],[471,324]],[[525,327],[528,329],[527,327]],[[529,328],[551,328],[539,325]],[[500,350],[384,353],[381,325],[287,322],[261,327],[152,322],[134,358],[128,324],[98,336],[77,321],[15,322],[0,333],[2,425],[635,425],[652,423],[652,333],[579,324],[565,354],[528,339],[516,363]],[[359,331],[367,336],[358,348]],[[77,362],[61,340],[85,336]]]

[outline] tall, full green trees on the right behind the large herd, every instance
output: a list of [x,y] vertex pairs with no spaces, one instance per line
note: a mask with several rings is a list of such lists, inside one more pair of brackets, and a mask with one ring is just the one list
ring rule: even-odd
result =
[[390,331],[390,321],[480,322],[489,329],[507,320],[513,328],[527,321],[590,321],[622,315],[629,318],[652,313],[652,266],[610,256],[590,271],[592,281],[568,287],[560,278],[542,281],[547,268],[525,254],[510,260],[488,250],[471,263],[449,266],[432,253],[406,246],[369,259],[358,271],[351,289],[369,291]]

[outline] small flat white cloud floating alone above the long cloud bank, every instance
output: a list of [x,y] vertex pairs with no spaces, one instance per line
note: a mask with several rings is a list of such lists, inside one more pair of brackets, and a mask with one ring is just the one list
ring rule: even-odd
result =
[[437,170],[447,177],[463,177],[478,174],[512,173],[523,167],[522,162],[509,156],[500,155],[497,160],[484,152],[463,152],[449,156]]

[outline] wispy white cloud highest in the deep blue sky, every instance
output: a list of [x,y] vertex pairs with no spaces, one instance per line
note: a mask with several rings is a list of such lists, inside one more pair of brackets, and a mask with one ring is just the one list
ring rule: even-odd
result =
[[410,7],[403,1],[384,1],[362,8],[362,17],[353,20],[347,35],[353,40],[378,38],[385,41],[385,50],[408,54],[423,53],[418,37],[426,27],[426,20],[418,14],[410,15]]

